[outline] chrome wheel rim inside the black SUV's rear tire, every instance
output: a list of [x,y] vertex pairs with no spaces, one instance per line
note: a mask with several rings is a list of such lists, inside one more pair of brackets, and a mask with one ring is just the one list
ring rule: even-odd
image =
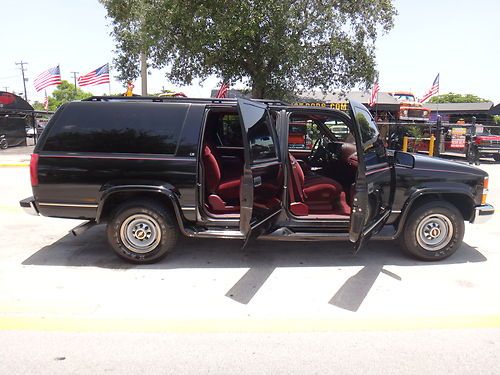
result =
[[149,253],[161,241],[160,224],[146,214],[132,215],[123,221],[120,238],[130,251],[140,254]]

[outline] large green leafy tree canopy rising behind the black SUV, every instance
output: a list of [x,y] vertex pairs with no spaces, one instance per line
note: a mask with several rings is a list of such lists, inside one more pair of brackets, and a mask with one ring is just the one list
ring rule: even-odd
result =
[[243,81],[255,98],[373,82],[375,41],[390,30],[391,0],[100,0],[112,21],[116,67],[139,55],[190,84],[212,74]]

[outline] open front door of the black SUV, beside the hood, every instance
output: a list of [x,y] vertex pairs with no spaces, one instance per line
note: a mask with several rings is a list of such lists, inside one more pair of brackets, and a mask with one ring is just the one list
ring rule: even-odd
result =
[[361,103],[351,101],[350,115],[356,128],[358,150],[358,171],[349,229],[349,240],[354,242],[356,253],[389,218],[394,170],[370,112]]

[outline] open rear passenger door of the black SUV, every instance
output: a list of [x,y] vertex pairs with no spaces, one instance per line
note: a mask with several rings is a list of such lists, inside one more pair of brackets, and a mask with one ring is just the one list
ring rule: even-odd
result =
[[281,211],[283,165],[274,120],[267,105],[238,99],[245,164],[240,190],[240,231],[256,237]]

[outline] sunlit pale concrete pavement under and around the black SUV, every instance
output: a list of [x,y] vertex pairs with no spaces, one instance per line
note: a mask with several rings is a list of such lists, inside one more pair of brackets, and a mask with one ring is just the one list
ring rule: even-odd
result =
[[[241,250],[239,241],[185,239],[160,263],[134,266],[108,248],[103,226],[74,237],[79,221],[24,214],[29,170],[6,166],[9,157],[0,167],[1,373],[105,372],[113,355],[122,361],[109,368],[134,372],[148,342],[142,360],[169,373],[498,373],[499,214],[467,224],[462,247],[437,263],[410,259],[395,242],[352,256],[348,243]],[[480,168],[498,208],[500,166]],[[58,364],[66,357],[73,362]],[[329,364],[334,357],[349,365]]]

